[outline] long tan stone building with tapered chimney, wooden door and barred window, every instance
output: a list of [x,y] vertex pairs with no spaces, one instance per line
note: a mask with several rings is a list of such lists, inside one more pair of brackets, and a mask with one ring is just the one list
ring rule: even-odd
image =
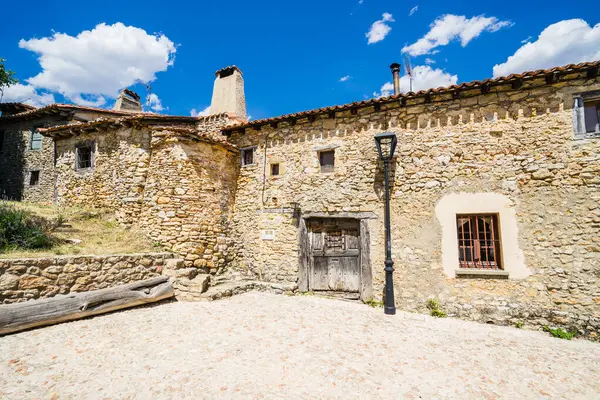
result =
[[421,311],[437,298],[468,319],[595,337],[599,68],[247,121],[241,72],[228,67],[210,116],[113,116],[41,132],[54,139],[55,201],[113,209],[187,270],[363,300],[383,296],[374,136],[393,132],[397,306]]

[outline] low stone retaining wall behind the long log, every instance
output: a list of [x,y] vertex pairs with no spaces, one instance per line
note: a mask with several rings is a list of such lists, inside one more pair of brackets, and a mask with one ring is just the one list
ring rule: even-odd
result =
[[170,253],[0,259],[0,303],[86,292],[161,275]]

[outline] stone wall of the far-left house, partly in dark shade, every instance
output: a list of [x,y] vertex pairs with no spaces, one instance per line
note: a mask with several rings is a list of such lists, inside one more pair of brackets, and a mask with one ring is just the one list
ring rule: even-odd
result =
[[[42,148],[31,149],[31,134],[35,127],[65,123],[63,117],[2,120],[5,132],[0,151],[0,198],[51,203],[54,194],[54,143],[42,138]],[[30,185],[31,171],[40,171],[39,183]]]

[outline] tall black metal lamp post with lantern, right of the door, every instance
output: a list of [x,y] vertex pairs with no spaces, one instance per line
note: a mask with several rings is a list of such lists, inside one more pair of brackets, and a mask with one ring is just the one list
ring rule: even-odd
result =
[[375,135],[375,144],[379,158],[383,161],[385,173],[385,305],[384,312],[389,315],[396,314],[394,302],[394,262],[392,261],[392,238],[390,234],[390,178],[388,174],[390,161],[394,156],[398,139],[391,132]]

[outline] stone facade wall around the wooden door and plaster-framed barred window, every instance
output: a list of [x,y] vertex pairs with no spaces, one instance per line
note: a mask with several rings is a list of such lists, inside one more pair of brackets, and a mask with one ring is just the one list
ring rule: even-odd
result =
[[[373,136],[389,130],[398,135],[391,215],[400,308],[424,311],[426,300],[437,297],[450,313],[467,319],[559,325],[596,336],[600,140],[573,140],[570,107],[573,93],[597,90],[600,80],[536,85],[543,82],[234,133],[231,140],[240,147],[259,146],[257,164],[242,167],[238,180],[235,270],[269,281],[297,280],[298,228],[285,208],[291,202],[303,214],[373,212],[377,218],[368,222],[373,287],[381,298],[383,187]],[[285,172],[269,177],[267,165],[261,195],[265,141],[267,163],[280,162]],[[326,148],[336,151],[330,174],[319,172],[318,151]],[[445,195],[462,192],[510,199],[531,275],[498,280],[444,274],[435,208]],[[275,230],[274,240],[261,239],[266,227]]]

